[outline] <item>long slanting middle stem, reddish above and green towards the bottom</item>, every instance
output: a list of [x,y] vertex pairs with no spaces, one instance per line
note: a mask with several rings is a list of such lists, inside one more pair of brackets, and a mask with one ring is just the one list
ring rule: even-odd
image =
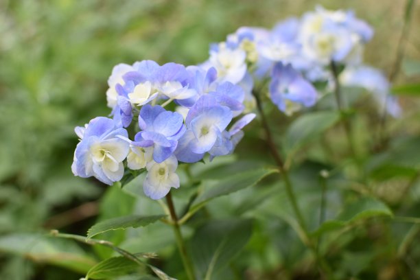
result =
[[288,199],[289,199],[290,203],[292,204],[292,209],[294,211],[294,215],[296,215],[296,219],[297,219],[297,221],[299,223],[299,226],[301,227],[301,231],[304,235],[303,236],[304,237],[304,243],[308,248],[310,248],[310,250],[314,254],[314,256],[316,258],[316,262],[318,263],[320,268],[323,270],[323,272],[325,272],[325,274],[327,275],[327,279],[334,279],[334,276],[332,275],[331,268],[329,268],[325,259],[323,259],[323,257],[318,254],[318,252],[317,252],[317,250],[314,246],[314,243],[312,242],[312,238],[310,237],[310,235],[307,231],[307,226],[306,226],[305,220],[303,219],[303,215],[301,213],[301,210],[299,209],[299,205],[297,203],[296,196],[295,196],[294,191],[293,191],[292,182],[290,180],[288,170],[286,170],[285,167],[284,167],[283,159],[281,159],[281,156],[280,156],[279,152],[277,151],[277,148],[276,148],[276,145],[275,145],[275,142],[274,142],[274,139],[272,137],[271,130],[270,130],[270,126],[268,126],[266,115],[264,114],[264,110],[263,110],[262,105],[261,105],[261,100],[259,99],[259,93],[254,91],[253,95],[255,96],[255,100],[257,102],[257,109],[258,109],[259,115],[261,117],[262,126],[263,126],[263,128],[266,132],[266,141],[268,143],[268,148],[270,149],[271,155],[274,158],[275,162],[277,163],[277,166],[279,167],[279,172],[280,172],[280,174],[283,178],[283,181],[285,183],[286,194],[288,195]]

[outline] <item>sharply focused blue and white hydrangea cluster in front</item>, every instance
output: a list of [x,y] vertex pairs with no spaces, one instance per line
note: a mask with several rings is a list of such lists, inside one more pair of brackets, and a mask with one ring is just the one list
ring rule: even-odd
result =
[[[84,128],[75,128],[80,143],[73,174],[95,176],[111,185],[124,176],[124,166],[144,169],[143,189],[152,199],[179,187],[178,161],[195,163],[205,154],[210,159],[231,154],[242,128],[255,117],[240,117],[244,90],[220,79],[213,67],[144,60],[115,66],[108,85],[113,119],[96,117]],[[129,137],[129,127],[137,131],[134,137]]]

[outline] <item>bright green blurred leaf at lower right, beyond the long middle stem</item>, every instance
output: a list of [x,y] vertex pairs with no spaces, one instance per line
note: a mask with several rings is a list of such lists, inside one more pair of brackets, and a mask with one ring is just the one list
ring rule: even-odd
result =
[[377,216],[392,217],[393,212],[380,200],[375,198],[360,198],[347,205],[334,220],[328,220],[321,224],[312,235],[318,236],[328,231],[342,229],[360,220]]

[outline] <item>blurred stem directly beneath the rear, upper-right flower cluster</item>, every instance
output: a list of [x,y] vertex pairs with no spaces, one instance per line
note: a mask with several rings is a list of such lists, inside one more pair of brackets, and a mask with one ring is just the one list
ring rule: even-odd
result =
[[351,124],[349,122],[349,119],[347,119],[347,117],[345,116],[344,105],[342,102],[341,86],[340,86],[340,81],[338,80],[338,69],[337,69],[336,62],[331,60],[331,62],[329,63],[329,67],[331,68],[331,73],[333,74],[333,78],[334,78],[334,95],[336,96],[336,103],[337,103],[338,111],[340,112],[340,115],[341,115],[342,126],[345,129],[347,142],[349,143],[349,150],[351,154],[353,155],[353,157],[356,159],[357,156],[355,154],[353,135],[351,133]]

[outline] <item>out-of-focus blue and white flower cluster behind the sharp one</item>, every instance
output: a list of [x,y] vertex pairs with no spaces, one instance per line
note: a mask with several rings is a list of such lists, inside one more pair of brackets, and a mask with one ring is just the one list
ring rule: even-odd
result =
[[[268,89],[272,102],[283,113],[291,115],[316,104],[320,96],[314,82],[334,83],[331,63],[344,69],[365,69],[363,49],[372,36],[373,29],[353,12],[317,7],[300,19],[277,23],[272,30],[240,27],[227,36],[226,41],[211,46],[209,60],[202,67],[214,67],[220,73],[220,80],[242,86],[246,100],[252,100],[253,84],[270,80]],[[376,81],[388,86],[386,79]],[[347,79],[345,85],[362,86],[371,91],[380,106],[384,98],[388,98],[383,96],[384,91],[372,91],[365,83]],[[395,115],[399,110],[397,101],[388,98],[387,104],[388,112]]]

